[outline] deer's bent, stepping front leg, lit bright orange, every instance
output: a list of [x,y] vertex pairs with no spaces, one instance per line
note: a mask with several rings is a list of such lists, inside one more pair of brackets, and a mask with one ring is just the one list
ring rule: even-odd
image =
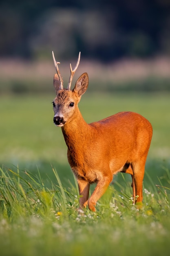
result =
[[97,201],[106,192],[106,189],[108,188],[108,186],[112,180],[113,180],[113,176],[110,176],[110,177],[103,177],[102,180],[99,180],[97,182],[95,190],[93,191],[91,197],[88,200],[88,208],[91,211],[96,211],[95,205],[96,205]]

